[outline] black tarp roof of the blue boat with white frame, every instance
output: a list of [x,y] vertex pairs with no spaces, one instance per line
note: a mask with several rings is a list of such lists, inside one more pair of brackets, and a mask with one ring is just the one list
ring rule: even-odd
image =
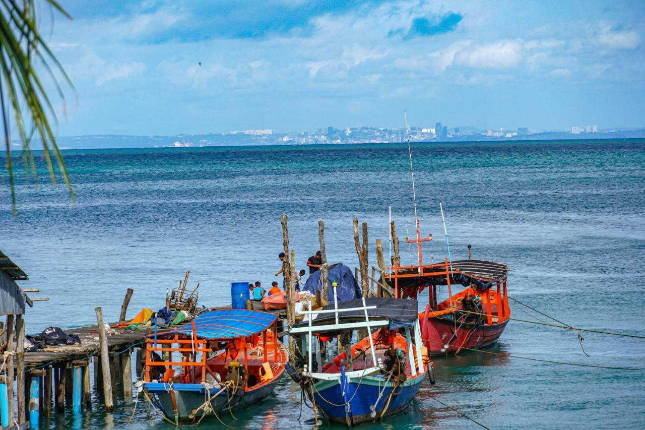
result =
[[[376,306],[376,309],[368,309],[367,313],[370,320],[388,320],[389,329],[395,330],[401,327],[413,327],[414,323],[419,320],[419,305],[416,300],[395,299],[384,297],[368,297],[365,299],[365,305]],[[352,307],[362,307],[362,299],[348,300],[338,303],[338,309],[349,309]],[[332,305],[323,307],[323,310],[333,309]],[[365,320],[365,312],[348,311],[340,312],[339,320],[342,322],[357,322]],[[335,316],[330,314],[319,314],[313,319],[312,325],[326,325],[335,322]],[[294,327],[305,327],[308,322],[302,322]]]

